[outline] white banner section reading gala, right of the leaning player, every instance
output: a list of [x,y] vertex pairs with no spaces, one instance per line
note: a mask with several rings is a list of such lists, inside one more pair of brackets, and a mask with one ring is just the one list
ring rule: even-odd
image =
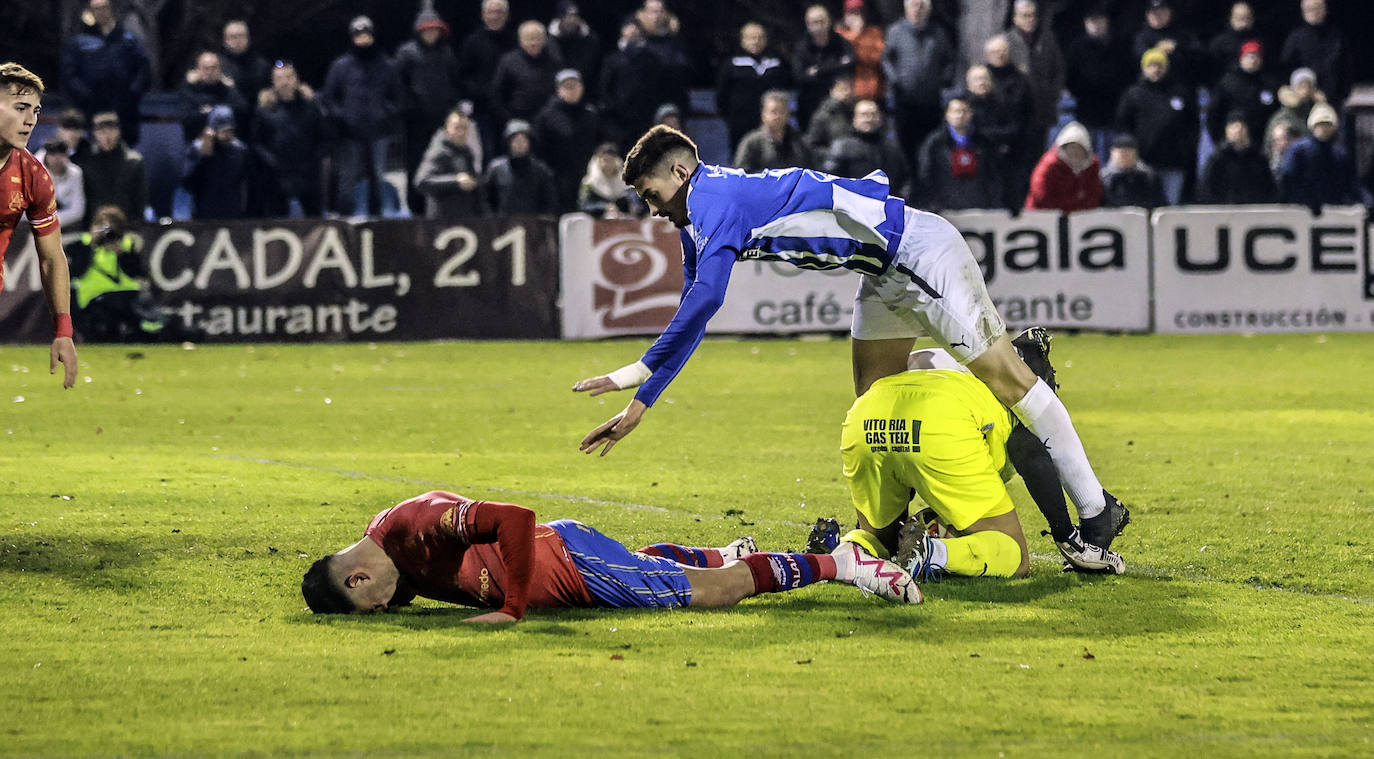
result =
[[1149,331],[1150,220],[1143,209],[945,217],[969,241],[1009,326]]

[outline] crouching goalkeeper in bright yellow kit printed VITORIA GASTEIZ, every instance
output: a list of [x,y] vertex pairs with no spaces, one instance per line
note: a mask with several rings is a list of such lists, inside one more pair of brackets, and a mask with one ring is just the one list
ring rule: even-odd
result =
[[[1026,330],[1014,345],[1048,386],[1058,388],[1046,330]],[[1116,531],[1092,534],[1090,542],[1069,518],[1044,444],[1017,424],[987,385],[941,349],[916,351],[908,366],[903,374],[874,382],[845,418],[841,454],[859,527],[842,540],[879,557],[896,556],[918,582],[945,572],[1025,576],[1030,554],[1004,485],[1014,465],[1050,522],[1068,568],[1125,571],[1121,557],[1106,550],[1129,521],[1124,507]],[[910,518],[914,495],[949,536],[932,536],[925,520]],[[808,550],[834,539],[838,525],[822,520]]]

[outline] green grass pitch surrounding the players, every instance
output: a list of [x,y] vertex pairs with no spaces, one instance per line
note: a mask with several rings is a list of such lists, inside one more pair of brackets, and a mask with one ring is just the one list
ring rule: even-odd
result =
[[304,610],[312,558],[431,487],[632,546],[848,514],[845,341],[709,341],[578,454],[627,399],[569,386],[644,345],[82,346],[70,392],[0,348],[0,755],[1374,752],[1374,336],[1058,338],[1124,578],[1062,575],[1017,487],[1030,578],[923,606]]

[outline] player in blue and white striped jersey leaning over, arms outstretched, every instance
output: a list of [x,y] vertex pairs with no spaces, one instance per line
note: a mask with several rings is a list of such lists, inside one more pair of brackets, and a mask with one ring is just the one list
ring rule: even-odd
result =
[[682,230],[683,296],[640,360],[573,386],[594,396],[639,386],[624,411],[583,439],[583,451],[606,455],[639,425],[701,342],[736,261],[846,268],[861,275],[851,326],[856,395],[905,371],[915,338],[929,334],[1046,443],[1077,506],[1083,538],[1107,547],[1120,505],[1098,483],[1063,403],[1013,348],[952,224],[907,208],[889,194],[882,172],[863,179],[811,169],[745,173],[702,164],[691,139],[668,126],[635,143],[622,179],[655,216]]

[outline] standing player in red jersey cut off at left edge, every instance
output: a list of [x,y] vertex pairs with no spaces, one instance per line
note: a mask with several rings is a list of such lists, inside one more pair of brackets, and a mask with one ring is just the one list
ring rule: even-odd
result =
[[[71,342],[71,285],[58,228],[58,201],[48,169],[25,147],[38,124],[41,100],[41,78],[18,63],[0,63],[0,263],[15,224],[27,216],[38,249],[43,293],[56,326],[48,373],[55,374],[62,362],[62,386],[70,388],[77,381],[77,348]],[[4,287],[3,270],[0,287]]]

